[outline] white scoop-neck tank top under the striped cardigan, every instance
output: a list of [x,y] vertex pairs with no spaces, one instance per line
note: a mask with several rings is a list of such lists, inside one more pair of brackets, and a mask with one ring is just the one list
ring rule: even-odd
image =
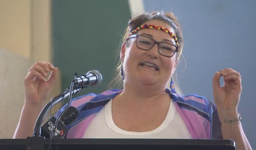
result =
[[135,139],[191,139],[191,135],[171,100],[167,115],[160,126],[152,131],[132,132],[117,127],[112,118],[112,100],[95,116],[83,138]]

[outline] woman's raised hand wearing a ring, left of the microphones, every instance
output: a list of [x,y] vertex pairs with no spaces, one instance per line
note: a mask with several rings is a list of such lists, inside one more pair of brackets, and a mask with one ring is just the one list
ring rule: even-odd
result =
[[[47,77],[48,73],[51,71],[51,75],[46,80],[45,77]],[[24,79],[25,105],[43,105],[56,81],[57,72],[58,68],[54,68],[49,62],[37,61],[34,63]]]

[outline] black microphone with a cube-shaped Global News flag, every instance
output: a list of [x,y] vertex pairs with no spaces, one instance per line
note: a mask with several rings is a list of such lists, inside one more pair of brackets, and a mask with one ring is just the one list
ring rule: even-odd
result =
[[[54,138],[55,139],[60,139],[63,137],[67,131],[68,128],[66,125],[70,125],[75,120],[77,119],[79,115],[78,110],[71,106],[63,113],[63,115],[60,117],[60,120],[57,123],[57,128],[54,132]],[[50,131],[53,131],[54,124],[56,122],[56,117],[53,116],[50,121],[46,122],[42,127],[41,127],[41,136],[44,136],[45,138],[50,138]]]

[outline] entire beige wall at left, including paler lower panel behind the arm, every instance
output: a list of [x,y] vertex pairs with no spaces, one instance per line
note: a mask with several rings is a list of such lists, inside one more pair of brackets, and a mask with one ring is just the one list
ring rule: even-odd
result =
[[[52,62],[51,33],[51,0],[0,0],[0,139],[13,137],[28,69],[38,60]],[[60,93],[60,83],[49,100]]]

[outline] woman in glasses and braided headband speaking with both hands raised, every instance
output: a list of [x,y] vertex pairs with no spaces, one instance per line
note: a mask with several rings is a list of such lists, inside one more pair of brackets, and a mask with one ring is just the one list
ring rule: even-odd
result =
[[[73,100],[72,106],[80,114],[67,138],[223,138],[234,140],[237,149],[251,149],[237,112],[242,91],[240,74],[229,68],[215,73],[213,93],[218,111],[204,97],[181,96],[175,92],[171,77],[182,47],[180,25],[173,14],[153,12],[132,18],[120,50],[118,69],[123,90]],[[50,71],[52,75],[46,81],[44,77]],[[31,67],[14,138],[32,135],[56,76],[57,68],[50,63],[36,62]],[[224,87],[220,86],[221,76]],[[170,80],[171,90],[166,89]]]

